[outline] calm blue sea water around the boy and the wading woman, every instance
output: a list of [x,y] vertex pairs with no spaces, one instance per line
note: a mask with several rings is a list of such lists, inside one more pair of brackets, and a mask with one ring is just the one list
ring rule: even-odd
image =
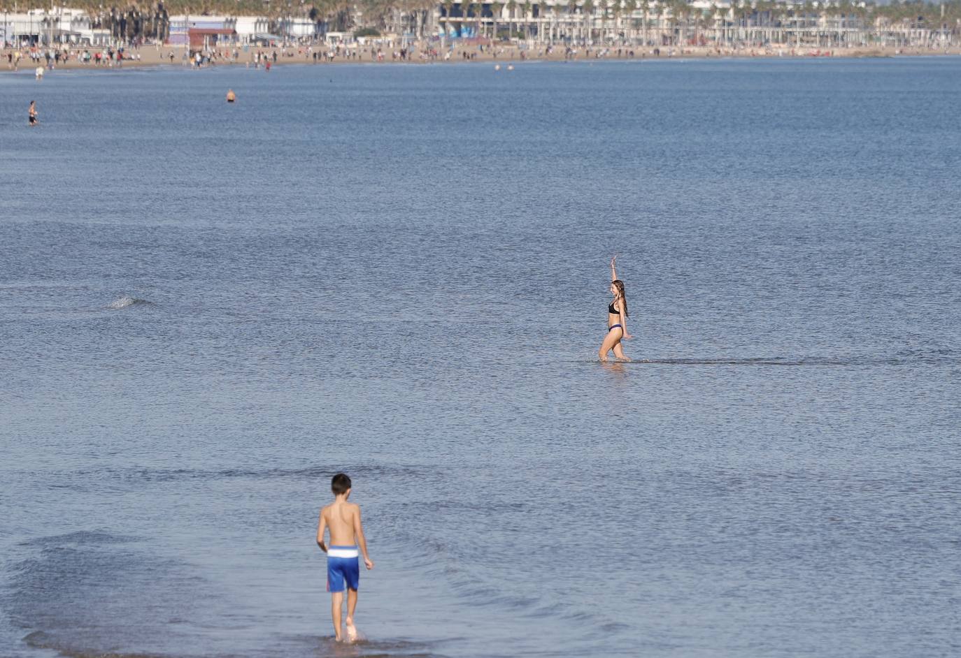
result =
[[959,105],[947,58],[0,76],[0,655],[957,652]]

